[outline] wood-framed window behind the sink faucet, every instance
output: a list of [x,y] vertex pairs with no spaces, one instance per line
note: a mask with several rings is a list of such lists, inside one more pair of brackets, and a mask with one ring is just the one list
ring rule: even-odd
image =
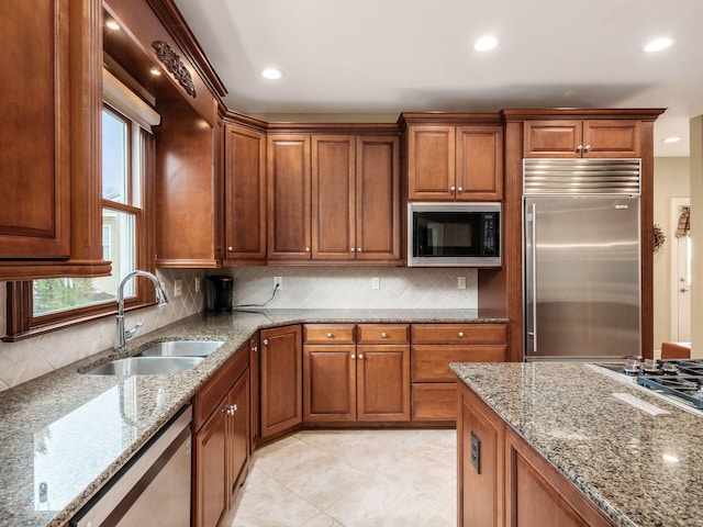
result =
[[[115,79],[111,82],[114,85]],[[114,89],[114,86],[105,89],[105,93]],[[122,93],[129,91],[125,87],[118,89]],[[134,109],[130,101],[125,103],[124,96],[116,102],[114,106],[120,110],[105,103],[102,111],[102,244],[103,259],[112,261],[112,274],[10,283],[8,305],[13,319],[8,324],[10,340],[114,313],[121,278],[135,269],[154,270],[147,256],[154,251],[147,246],[143,202],[148,195],[145,183],[153,180],[149,172],[155,142],[150,125],[145,130],[140,108]],[[156,124],[153,113],[149,117]],[[153,291],[142,289],[138,281],[125,284],[127,307],[153,302]]]

